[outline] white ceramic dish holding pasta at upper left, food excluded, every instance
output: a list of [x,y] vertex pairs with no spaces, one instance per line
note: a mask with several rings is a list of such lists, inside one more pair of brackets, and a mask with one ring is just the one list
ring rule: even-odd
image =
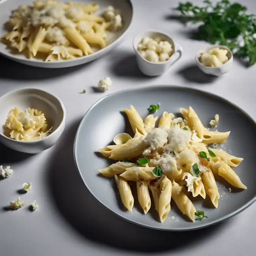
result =
[[[0,0],[0,37],[8,32],[4,26],[4,23],[9,20],[12,11],[17,9],[18,6],[22,4],[32,5],[32,2],[32,0]],[[68,2],[68,0],[62,0],[62,2]],[[74,0],[73,2],[76,2],[78,4],[92,3],[91,0]],[[120,42],[122,42],[122,40],[124,39],[124,36],[127,34],[128,29],[130,28],[130,24],[132,23],[133,8],[132,2],[130,0],[97,0],[95,2],[99,6],[99,10],[95,13],[96,15],[101,15],[107,6],[112,5],[114,6],[114,8],[120,10],[124,24],[122,29],[118,30],[116,33],[108,33],[108,46],[106,46],[105,48],[98,50],[88,56],[83,56],[74,60],[44,62],[44,60],[36,58],[32,58],[31,60],[27,59],[23,53],[14,54],[11,49],[7,48],[5,44],[0,42],[0,55],[3,55],[6,58],[9,58],[16,62],[20,62],[22,64],[40,68],[66,68],[71,66],[77,66],[80,64],[91,62],[104,56],[105,54],[110,52],[110,50],[114,49],[118,44],[120,44]]]

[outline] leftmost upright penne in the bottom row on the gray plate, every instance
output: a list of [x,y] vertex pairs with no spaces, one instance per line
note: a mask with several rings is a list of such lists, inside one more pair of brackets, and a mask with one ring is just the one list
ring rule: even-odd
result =
[[124,178],[115,175],[116,184],[119,190],[119,194],[122,200],[122,203],[127,208],[128,211],[132,211],[134,205],[134,198],[132,196],[132,191],[127,180]]

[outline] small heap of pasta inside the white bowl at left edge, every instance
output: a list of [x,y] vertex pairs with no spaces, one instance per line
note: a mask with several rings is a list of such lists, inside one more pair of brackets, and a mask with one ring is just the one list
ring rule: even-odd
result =
[[40,140],[52,133],[42,111],[34,108],[27,108],[25,112],[17,107],[10,110],[4,128],[6,136],[22,141]]

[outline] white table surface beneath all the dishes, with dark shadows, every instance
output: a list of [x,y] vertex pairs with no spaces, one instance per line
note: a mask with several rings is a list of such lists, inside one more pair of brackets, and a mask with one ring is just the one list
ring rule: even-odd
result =
[[[200,3],[200,0],[192,1]],[[256,14],[254,0],[244,0]],[[212,78],[196,68],[195,53],[207,44],[189,38],[189,28],[170,19],[178,0],[134,0],[134,20],[124,42],[110,54],[82,66],[40,69],[24,66],[0,56],[0,94],[22,87],[47,90],[66,106],[66,129],[49,150],[29,155],[0,145],[0,164],[14,174],[0,180],[0,255],[253,255],[256,237],[256,204],[221,224],[193,232],[160,232],[122,220],[106,210],[88,192],[73,161],[73,142],[88,108],[106,94],[126,88],[157,84],[189,86],[213,92],[234,102],[256,120],[256,65],[250,68],[234,60],[230,73]],[[184,48],[184,55],[161,77],[148,78],[138,70],[132,38],[154,28],[169,33]],[[100,78],[110,76],[111,89],[94,90]],[[79,94],[86,89],[86,94]],[[107,114],[107,112],[106,112]],[[93,128],[93,124],[92,128]],[[94,170],[92,170],[94,171]],[[246,170],[244,170],[246,171]],[[19,196],[23,182],[32,190],[20,195],[27,206],[7,211]],[[38,200],[39,209],[28,210]]]

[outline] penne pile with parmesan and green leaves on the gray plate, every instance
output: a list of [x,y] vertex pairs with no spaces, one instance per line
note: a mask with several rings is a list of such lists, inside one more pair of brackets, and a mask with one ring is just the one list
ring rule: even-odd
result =
[[[180,108],[183,118],[164,112],[158,128],[155,127],[158,117],[152,114],[143,121],[133,106],[124,112],[135,135],[132,138],[118,134],[119,138],[114,138],[116,145],[101,148],[103,156],[118,162],[98,171],[115,178],[122,203],[129,211],[134,204],[129,182],[136,182],[138,201],[145,214],[151,207],[151,191],[161,222],[171,210],[171,199],[193,222],[196,209],[191,197],[208,196],[217,208],[220,194],[214,176],[246,189],[231,168],[238,166],[243,158],[206,147],[226,141],[230,132],[205,128],[192,107]],[[141,158],[148,158],[149,162],[141,165],[138,161]]]

